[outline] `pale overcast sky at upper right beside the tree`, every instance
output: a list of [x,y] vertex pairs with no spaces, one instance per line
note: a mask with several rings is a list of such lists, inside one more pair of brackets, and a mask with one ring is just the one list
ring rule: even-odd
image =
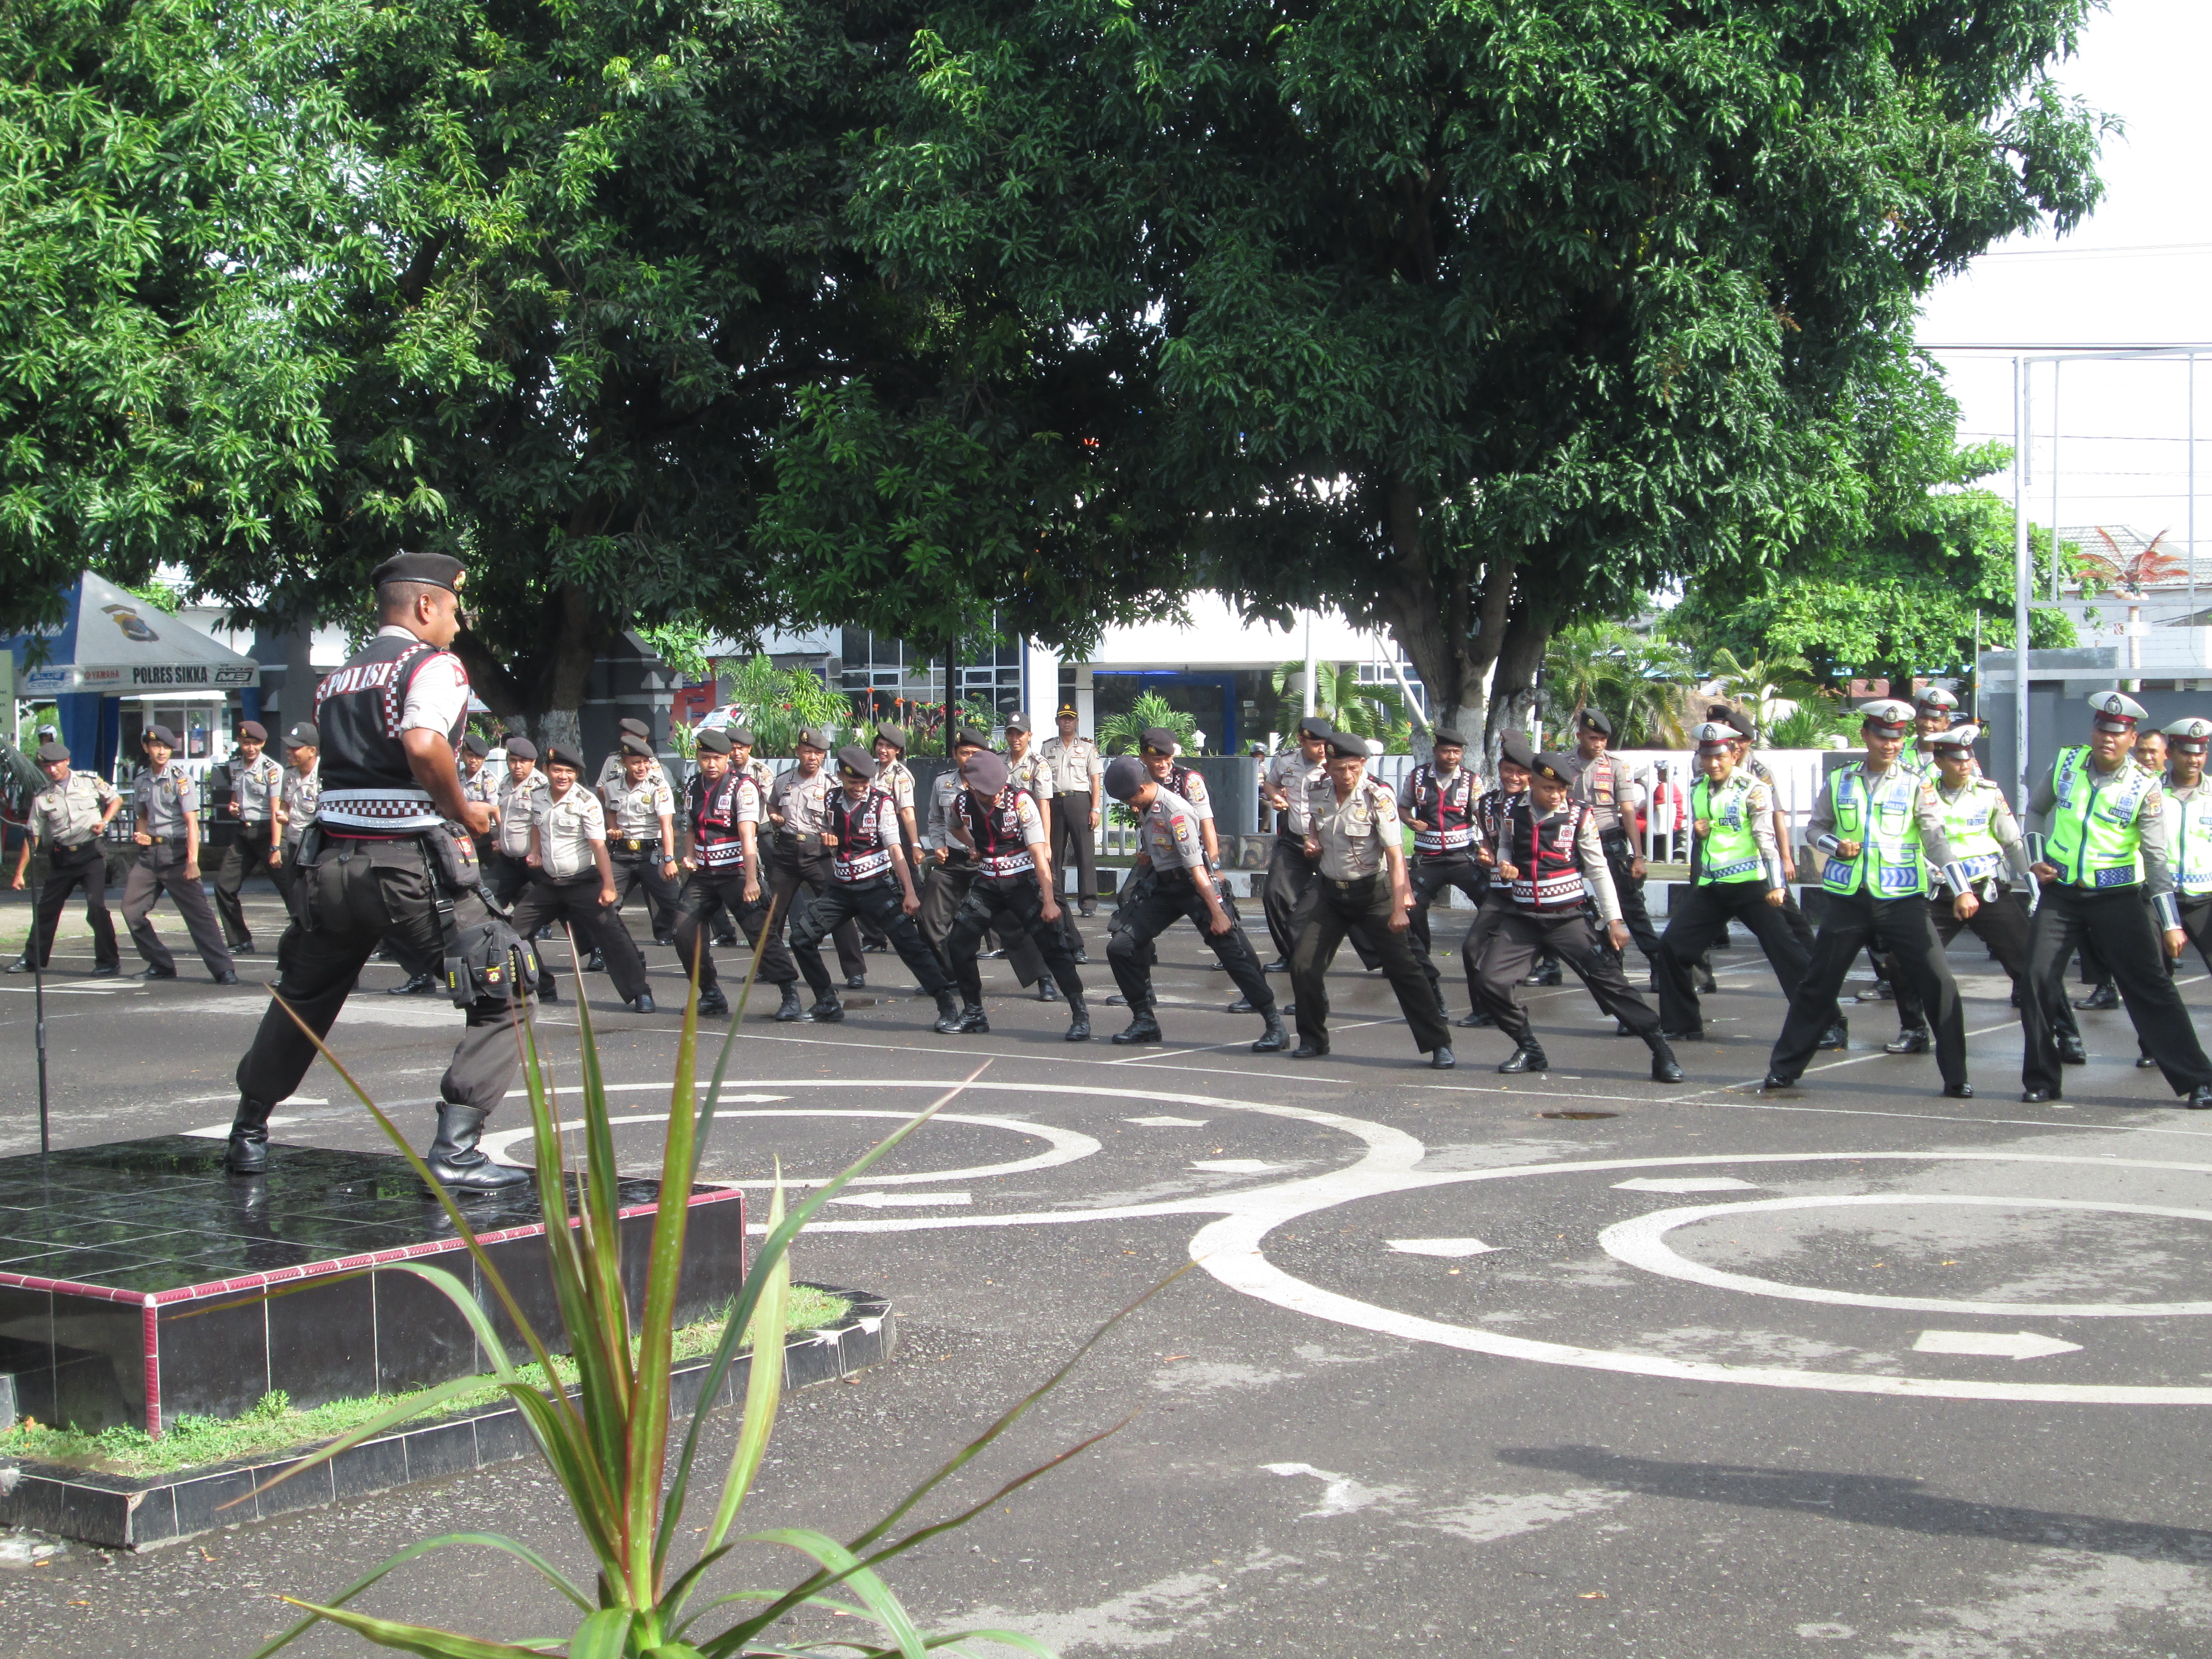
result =
[[[2106,199],[2070,237],[2017,237],[1975,261],[1922,307],[1927,345],[2212,343],[2212,168],[2203,115],[2212,97],[2212,0],[2110,0],[2059,69],[2068,93],[2126,122],[2106,142]],[[2013,434],[2008,352],[1942,352],[1960,400],[1960,438]],[[2212,580],[2212,349],[2197,363],[2197,542]],[[2070,363],[2057,369],[2057,520],[2172,531],[2190,509],[2185,363]],[[2053,367],[2031,378],[2028,515],[2051,522]],[[2011,491],[2011,476],[1989,480]]]

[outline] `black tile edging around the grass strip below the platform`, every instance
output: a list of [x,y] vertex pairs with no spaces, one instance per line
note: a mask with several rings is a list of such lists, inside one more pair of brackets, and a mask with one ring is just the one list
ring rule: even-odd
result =
[[[836,1325],[785,1338],[785,1387],[834,1383],[880,1365],[898,1347],[898,1318],[889,1301],[832,1285],[821,1290],[847,1298],[852,1312]],[[670,1405],[677,1413],[690,1411],[697,1402],[706,1365],[703,1358],[677,1365],[670,1378]],[[752,1356],[741,1354],[723,1376],[714,1405],[741,1400],[750,1371]],[[522,1411],[511,1405],[495,1407],[473,1418],[442,1418],[365,1440],[319,1469],[221,1513],[217,1513],[221,1504],[281,1473],[294,1458],[208,1464],[144,1478],[100,1475],[49,1462],[0,1462],[0,1526],[29,1526],[80,1544],[142,1551],[217,1526],[268,1520],[292,1509],[319,1509],[341,1498],[367,1498],[535,1451],[538,1442],[531,1440]]]

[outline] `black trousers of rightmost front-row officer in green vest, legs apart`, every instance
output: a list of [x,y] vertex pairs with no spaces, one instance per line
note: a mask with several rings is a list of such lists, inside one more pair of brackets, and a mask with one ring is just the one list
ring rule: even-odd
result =
[[2020,1062],[2022,1088],[2059,1088],[2059,1044],[2051,1022],[2051,1004],[2066,995],[2066,958],[2081,942],[2097,956],[2119,987],[2121,1006],[2135,1022],[2143,1053],[2159,1062],[2177,1095],[2212,1084],[2212,1062],[2197,1042],[2188,1004],[2166,971],[2166,940],[2143,902],[2141,885],[2106,887],[2104,891],[2046,883],[2044,902],[2028,925],[2028,989],[2020,998],[2020,1026],[2026,1053]]

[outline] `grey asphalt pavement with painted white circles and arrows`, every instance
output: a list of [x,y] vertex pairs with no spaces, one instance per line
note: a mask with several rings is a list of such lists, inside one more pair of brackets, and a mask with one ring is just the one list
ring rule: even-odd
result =
[[[272,942],[274,900],[254,902]],[[1188,927],[1161,940],[1168,1042],[1110,1046],[1104,916],[1086,936],[1084,1046],[1002,962],[987,1037],[931,1033],[891,956],[869,958],[880,984],[843,1024],[748,1022],[712,1179],[757,1183],[779,1159],[821,1179],[984,1066],[801,1241],[799,1274],[889,1294],[905,1345],[787,1402],[754,1524],[856,1533],[1194,1261],[933,1506],[1124,1425],[889,1571],[927,1628],[1011,1626],[1086,1657],[2212,1655],[2212,1113],[2135,1068],[2124,1013],[2084,1015],[2090,1064],[2064,1102],[2024,1106],[2008,987],[1969,938],[1951,962],[1975,1099],[1944,1099],[1931,1057],[1880,1053],[1887,1004],[1851,1009],[1849,1053],[1761,1097],[1781,1000],[1739,949],[1681,1086],[1648,1082],[1644,1046],[1573,978],[1522,991],[1551,1073],[1500,1077],[1491,1031],[1453,1031],[1460,1066],[1433,1073],[1345,951],[1336,1053],[1298,1064],[1248,1051],[1259,1022],[1223,1011],[1234,989]],[[648,962],[675,1004],[672,951]],[[243,958],[239,989],[181,964],[153,987],[86,980],[88,947],[64,942],[60,1144],[228,1121],[265,1004],[252,980],[274,964]],[[460,1015],[385,995],[396,980],[369,969],[334,1046],[427,1137]],[[639,1119],[617,1148],[648,1175],[679,1022],[588,984]],[[1458,958],[1447,987],[1464,1013]],[[2203,1009],[2203,975],[2185,998]],[[9,1152],[35,1148],[29,1004],[27,978],[0,980]],[[555,1055],[573,1022],[573,1004],[549,1011]],[[274,1137],[378,1146],[321,1066]],[[721,1425],[710,1458],[726,1453]],[[0,1655],[250,1652],[285,1621],[279,1595],[327,1595],[469,1528],[584,1562],[549,1478],[520,1462],[148,1555],[69,1546],[4,1568]],[[759,1546],[717,1582],[796,1575]],[[407,1566],[363,1606],[504,1639],[566,1630],[522,1566],[482,1553]],[[321,1632],[303,1650],[349,1646]]]

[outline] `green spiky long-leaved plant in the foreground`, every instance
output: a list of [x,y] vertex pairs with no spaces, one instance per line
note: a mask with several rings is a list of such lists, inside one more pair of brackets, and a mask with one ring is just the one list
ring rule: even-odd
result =
[[[772,927],[774,920],[770,920],[770,929]],[[763,940],[765,938],[768,929],[763,929]],[[692,1181],[699,1175],[708,1130],[714,1121],[714,1104],[721,1099],[721,1084],[730,1064],[730,1051],[739,1022],[745,1015],[745,1002],[752,993],[757,975],[759,951],[754,951],[745,984],[739,991],[737,1013],[730,1018],[730,1029],[723,1035],[721,1055],[714,1062],[714,1075],[701,1104],[692,1086],[692,1044],[699,1029],[699,984],[697,971],[692,973],[692,989],[684,1009],[684,1040],[677,1055],[677,1075],[668,1097],[668,1135],[661,1148],[664,1197],[690,1192]],[[582,980],[582,975],[577,978]],[[279,998],[279,1002],[283,1000]],[[907,1135],[942,1110],[969,1082],[975,1082],[975,1077],[982,1075],[982,1068],[971,1073],[967,1082],[956,1084],[927,1110],[902,1124],[878,1146],[856,1159],[843,1175],[821,1186],[810,1199],[790,1212],[785,1212],[783,1183],[779,1177],[768,1210],[768,1237],[754,1256],[752,1272],[745,1274],[743,1290],[730,1310],[721,1345],[714,1349],[706,1376],[701,1378],[699,1405],[692,1409],[690,1427],[684,1433],[681,1449],[675,1458],[675,1471],[670,1475],[670,1336],[675,1329],[677,1281],[684,1265],[688,1206],[681,1201],[664,1201],[657,1208],[650,1254],[646,1261],[644,1307],[633,1327],[622,1290],[619,1230],[615,1214],[615,1141],[608,1126],[606,1086],[599,1075],[597,1044],[591,1026],[591,1004],[584,1000],[582,982],[577,984],[575,1006],[582,1022],[580,1095],[584,1110],[584,1168],[575,1183],[571,1183],[568,1159],[564,1152],[557,1095],[546,1066],[542,1064],[535,1029],[526,1018],[518,1022],[531,1128],[535,1133],[538,1150],[538,1197],[546,1221],[546,1243],[553,1285],[560,1298],[562,1325],[568,1336],[571,1358],[575,1360],[575,1389],[564,1391],[557,1385],[531,1385],[518,1376],[515,1367],[507,1360],[507,1345],[493,1329],[487,1310],[451,1272],[420,1263],[396,1263],[383,1272],[411,1272],[442,1292],[469,1321],[476,1338],[484,1347],[484,1354],[489,1354],[495,1365],[500,1389],[515,1402],[515,1407],[520,1407],[531,1436],[538,1440],[538,1449],[544,1453],[553,1478],[560,1482],[560,1489],[575,1513],[577,1526],[582,1528],[591,1553],[597,1557],[595,1584],[586,1590],[562,1575],[544,1555],[513,1537],[498,1533],[447,1533],[442,1537],[429,1537],[407,1546],[330,1601],[285,1597],[294,1606],[303,1608],[307,1617],[268,1641],[254,1659],[276,1652],[319,1621],[343,1626],[385,1648],[422,1655],[425,1659],[522,1659],[524,1655],[549,1652],[566,1652],[568,1659],[745,1659],[754,1655],[796,1657],[801,1652],[821,1655],[830,1650],[863,1655],[863,1659],[876,1655],[883,1659],[889,1659],[889,1655],[900,1655],[900,1659],[925,1659],[929,1652],[960,1652],[958,1644],[964,1639],[989,1639],[1026,1652],[1046,1655],[1046,1659],[1051,1659],[1048,1648],[1011,1630],[922,1635],[911,1615],[907,1615],[898,1597],[883,1582],[878,1568],[916,1544],[962,1526],[991,1504],[1006,1498],[1011,1491],[1029,1484],[1046,1469],[1066,1462],[1104,1438],[1093,1436],[1091,1440],[1060,1453],[1051,1462],[1015,1475],[980,1504],[971,1504],[947,1520],[920,1524],[894,1537],[894,1533],[931,1491],[936,1491],[945,1480],[967,1467],[993,1440],[1013,1427],[1037,1400],[1060,1385],[1075,1363],[1082,1360],[1082,1356],[1088,1354],[1108,1329],[1135,1312],[1135,1307],[1139,1307],[1152,1292],[1146,1292],[1146,1296],[1139,1296],[1135,1303],[1115,1314],[1075,1352],[1075,1356],[1068,1358],[1064,1367],[1060,1367],[1060,1371],[1015,1402],[1013,1409],[1000,1416],[998,1422],[993,1422],[982,1436],[962,1447],[949,1462],[945,1462],[945,1467],[922,1480],[883,1520],[843,1544],[825,1533],[799,1526],[779,1526],[745,1535],[734,1533],[739,1511],[768,1451],[768,1436],[774,1427],[776,1407],[783,1394],[783,1365],[776,1340],[770,1336],[757,1343],[745,1387],[745,1411],[739,1422],[730,1464],[723,1471],[714,1517],[706,1528],[699,1555],[688,1566],[677,1571],[670,1562],[670,1548],[681,1535],[679,1522],[690,1500],[708,1405],[721,1389],[721,1380],[737,1356],[743,1332],[754,1325],[761,1332],[783,1329],[785,1301],[790,1296],[787,1252],[792,1239],[801,1228],[805,1228],[807,1219],[823,1203],[836,1197],[838,1190],[843,1190],[854,1177],[863,1175],[894,1146],[907,1139]],[[299,1020],[296,1013],[292,1018]],[[305,1031],[307,1026],[301,1024],[301,1029]],[[312,1031],[307,1035],[314,1037]],[[469,1219],[462,1208],[431,1179],[422,1159],[407,1144],[407,1137],[400,1135],[383,1108],[369,1099],[352,1073],[338,1064],[336,1055],[332,1055],[321,1040],[316,1040],[316,1048],[321,1048],[330,1066],[345,1079],[347,1088],[354,1091],[361,1104],[367,1106],[376,1124],[407,1157],[422,1183],[445,1206],[447,1217],[469,1254],[476,1259],[478,1272],[491,1287],[493,1298],[507,1310],[507,1318],[513,1321],[522,1343],[529,1347],[538,1365],[544,1367],[544,1376],[551,1376],[553,1367],[549,1363],[551,1354],[546,1343],[524,1318],[522,1307],[509,1292],[500,1270],[478,1245],[476,1232],[469,1228]],[[420,1413],[422,1409],[440,1402],[447,1394],[467,1387],[480,1387],[480,1378],[456,1378],[440,1389],[416,1396],[409,1405],[396,1407],[394,1411],[301,1460],[283,1475],[276,1475],[276,1480],[265,1482],[261,1491],[279,1484],[281,1480],[290,1480],[303,1469],[327,1462],[347,1447],[389,1431],[403,1418]],[[1113,1429],[1106,1433],[1113,1433]],[[739,1544],[776,1544],[792,1548],[805,1555],[814,1568],[799,1584],[783,1590],[743,1588],[699,1599],[706,1590],[708,1573]],[[575,1606],[575,1630],[566,1639],[520,1644],[489,1641],[429,1626],[396,1624],[392,1619],[356,1613],[347,1606],[347,1601],[358,1597],[394,1568],[420,1555],[453,1546],[502,1551],[524,1562]],[[785,1632],[783,1626],[787,1626],[790,1619],[803,1608],[832,1610],[854,1619],[874,1621],[885,1632],[887,1641],[816,1641],[799,1637],[796,1632]],[[723,1628],[708,1632],[701,1626],[712,1615],[723,1615],[730,1621]]]

